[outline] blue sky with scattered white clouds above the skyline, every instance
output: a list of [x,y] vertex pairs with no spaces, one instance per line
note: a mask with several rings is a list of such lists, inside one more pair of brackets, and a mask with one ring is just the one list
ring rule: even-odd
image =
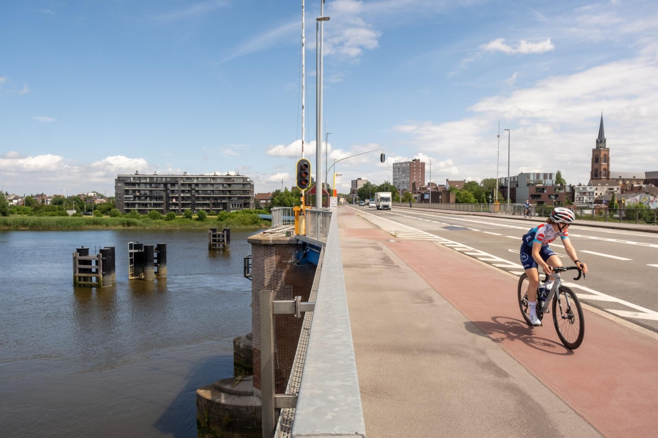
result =
[[[315,176],[320,0],[305,9]],[[116,174],[136,170],[240,172],[257,193],[294,184],[301,0],[1,10],[4,191],[113,195]],[[512,175],[561,170],[586,183],[601,112],[611,169],[658,170],[656,1],[327,0],[324,15],[328,162],[387,158],[336,164],[339,191],[390,180],[393,162],[413,158],[428,178],[431,160],[436,183],[507,176],[505,128]]]

